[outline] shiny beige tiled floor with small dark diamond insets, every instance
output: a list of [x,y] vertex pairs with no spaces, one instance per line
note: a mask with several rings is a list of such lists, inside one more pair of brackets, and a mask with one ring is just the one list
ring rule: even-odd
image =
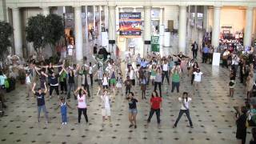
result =
[[[86,143],[86,144],[167,144],[167,143],[235,143],[235,120],[233,106],[242,105],[244,86],[237,82],[234,98],[227,97],[229,72],[221,67],[203,65],[202,86],[198,94],[192,96],[190,115],[194,122],[194,129],[188,126],[186,116],[183,116],[178,127],[173,129],[178,116],[180,104],[178,94],[170,94],[170,86],[163,88],[163,107],[161,114],[162,127],[158,129],[155,116],[150,126],[145,128],[150,106],[146,100],[141,99],[139,86],[134,89],[138,102],[138,128],[128,128],[128,103],[122,94],[118,94],[112,106],[114,126],[102,128],[102,116],[99,98],[96,97],[97,86],[91,88],[93,98],[89,99],[89,124],[82,118],[77,124],[77,110],[68,110],[69,123],[61,125],[57,98],[46,101],[50,114],[50,123],[45,126],[37,122],[36,99],[26,98],[25,86],[6,94],[8,109],[4,117],[0,118],[0,143]],[[181,91],[191,91],[190,78],[182,78]],[[149,97],[152,86],[148,87]],[[48,99],[48,98],[47,98]],[[75,107],[76,101],[71,99],[70,105]],[[248,129],[250,131],[250,129]],[[247,134],[247,141],[251,134]]]

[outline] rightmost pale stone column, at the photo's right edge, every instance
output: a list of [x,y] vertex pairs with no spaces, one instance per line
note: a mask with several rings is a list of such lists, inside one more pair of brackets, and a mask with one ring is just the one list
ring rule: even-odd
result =
[[243,46],[251,46],[252,31],[253,31],[254,7],[246,9],[246,26],[243,38]]

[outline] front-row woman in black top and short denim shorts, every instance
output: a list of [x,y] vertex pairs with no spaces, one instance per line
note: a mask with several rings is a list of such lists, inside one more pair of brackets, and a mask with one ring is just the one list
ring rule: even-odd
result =
[[129,93],[127,100],[128,100],[128,104],[129,104],[129,121],[130,121],[129,128],[134,126],[134,129],[136,129],[137,128],[136,116],[138,114],[136,103],[138,102],[138,100],[136,98],[134,98],[133,92]]

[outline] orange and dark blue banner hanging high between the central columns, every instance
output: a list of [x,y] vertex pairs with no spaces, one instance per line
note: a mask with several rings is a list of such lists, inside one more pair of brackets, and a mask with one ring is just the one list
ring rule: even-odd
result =
[[120,35],[141,35],[142,14],[141,13],[119,13]]

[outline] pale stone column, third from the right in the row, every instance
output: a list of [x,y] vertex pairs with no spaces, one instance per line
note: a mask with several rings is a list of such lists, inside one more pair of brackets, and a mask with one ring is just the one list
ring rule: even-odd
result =
[[186,52],[186,6],[179,6],[178,51]]

